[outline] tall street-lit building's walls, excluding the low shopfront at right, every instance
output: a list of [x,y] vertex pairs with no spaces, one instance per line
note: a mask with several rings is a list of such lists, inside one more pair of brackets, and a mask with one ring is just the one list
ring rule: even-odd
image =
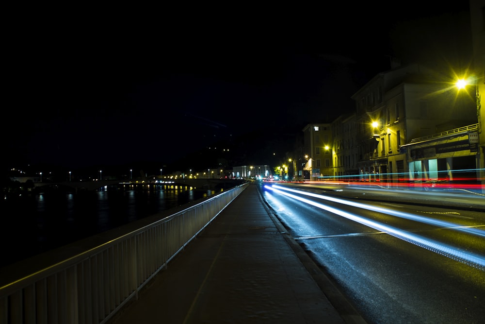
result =
[[[381,96],[375,96],[376,89],[383,89],[382,101],[378,100]],[[466,127],[477,120],[476,109],[470,104],[469,97],[460,96],[454,86],[432,82],[430,71],[416,65],[376,75],[352,98],[356,101],[361,180],[406,178],[410,162],[414,161],[410,159],[407,143],[441,131]],[[372,122],[377,125],[371,126]],[[336,133],[335,142],[338,143],[343,137]],[[339,165],[340,152],[335,154],[336,172],[345,174]]]

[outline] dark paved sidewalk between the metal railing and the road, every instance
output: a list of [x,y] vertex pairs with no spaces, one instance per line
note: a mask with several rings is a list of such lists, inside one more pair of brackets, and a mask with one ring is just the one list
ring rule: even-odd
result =
[[365,321],[251,184],[108,323]]

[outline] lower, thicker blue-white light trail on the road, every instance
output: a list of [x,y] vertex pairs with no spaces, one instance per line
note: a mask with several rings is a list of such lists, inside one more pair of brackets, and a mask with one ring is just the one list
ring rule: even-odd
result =
[[[470,252],[466,252],[466,251],[461,251],[461,250],[458,250],[457,248],[455,248],[451,245],[444,244],[444,243],[438,242],[438,241],[433,240],[433,239],[424,238],[422,236],[401,230],[401,229],[393,227],[393,226],[383,224],[381,222],[372,221],[372,220],[369,220],[367,218],[346,212],[344,210],[340,210],[340,209],[337,209],[337,208],[334,208],[334,207],[323,205],[321,203],[317,203],[317,202],[309,200],[307,198],[296,196],[296,195],[291,194],[291,193],[289,193],[285,190],[279,189],[280,188],[279,186],[273,186],[273,187],[264,186],[264,188],[278,192],[282,195],[285,195],[287,197],[291,197],[291,198],[296,199],[298,201],[301,201],[303,203],[313,205],[315,207],[329,211],[329,212],[334,213],[336,215],[340,215],[340,216],[345,217],[349,220],[352,220],[354,222],[358,222],[360,224],[369,226],[369,227],[376,229],[378,231],[386,232],[389,235],[392,235],[392,236],[394,236],[398,239],[402,239],[406,242],[415,244],[419,247],[422,247],[422,248],[427,249],[429,251],[435,252],[439,255],[447,256],[447,257],[449,257],[453,260],[468,264],[468,265],[475,267],[477,269],[480,269],[480,270],[485,269],[485,257],[484,256],[480,256],[480,255],[470,253]],[[287,189],[287,188],[284,188],[284,189]],[[289,191],[298,192],[298,190],[289,190]],[[326,197],[326,198],[328,198],[328,197]],[[331,200],[331,199],[329,199],[329,200]],[[346,202],[343,202],[343,203],[346,203]]]

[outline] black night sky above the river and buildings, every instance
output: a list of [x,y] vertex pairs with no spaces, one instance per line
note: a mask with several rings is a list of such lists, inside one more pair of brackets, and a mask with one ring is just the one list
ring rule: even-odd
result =
[[[350,96],[389,69],[391,56],[405,63],[439,53],[448,61],[440,46],[460,46],[438,37],[443,26],[433,16],[469,32],[459,20],[469,18],[468,1],[461,2],[451,10],[430,1],[420,12],[411,1],[405,8],[21,15],[4,44],[4,161],[171,163],[263,127],[330,122],[353,110]],[[432,32],[422,33],[423,24]],[[425,51],[430,39],[440,45]]]

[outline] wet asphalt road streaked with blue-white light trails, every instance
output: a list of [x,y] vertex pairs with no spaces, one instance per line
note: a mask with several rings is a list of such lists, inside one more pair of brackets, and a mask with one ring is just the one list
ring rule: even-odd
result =
[[368,323],[483,323],[484,196],[313,184],[263,197]]

